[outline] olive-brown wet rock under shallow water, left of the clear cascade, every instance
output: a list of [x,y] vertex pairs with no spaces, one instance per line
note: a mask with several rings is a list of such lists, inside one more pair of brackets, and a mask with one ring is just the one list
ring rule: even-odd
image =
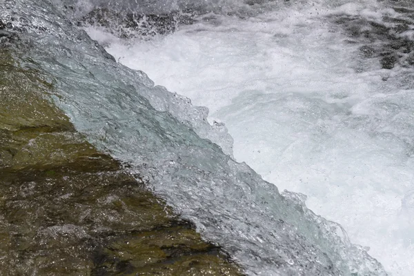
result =
[[241,275],[76,132],[36,68],[0,48],[0,275]]

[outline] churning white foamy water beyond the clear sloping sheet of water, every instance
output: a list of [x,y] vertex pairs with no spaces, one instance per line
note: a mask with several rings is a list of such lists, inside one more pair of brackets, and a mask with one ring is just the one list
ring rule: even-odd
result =
[[315,1],[248,18],[206,14],[152,39],[86,30],[120,63],[207,106],[211,122],[226,124],[237,161],[279,190],[304,193],[391,275],[411,276],[412,69],[362,59],[364,43],[332,20],[384,14],[399,15],[377,1]]

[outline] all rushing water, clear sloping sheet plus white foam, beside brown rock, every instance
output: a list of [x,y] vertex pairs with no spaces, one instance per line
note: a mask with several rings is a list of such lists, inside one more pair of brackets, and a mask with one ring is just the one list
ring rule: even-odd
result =
[[[8,0],[0,19],[50,74],[77,129],[144,175],[246,273],[385,275],[344,226],[388,272],[413,275],[410,52],[384,54],[390,36],[369,23],[411,13],[377,1],[76,2]],[[210,121],[224,121],[235,139],[237,161],[308,195],[312,210],[342,226],[233,161],[231,137],[207,123],[206,108],[153,86],[74,26],[97,5],[197,10],[193,24],[151,39],[87,30],[121,63],[210,108]],[[396,35],[409,46],[406,25]]]

